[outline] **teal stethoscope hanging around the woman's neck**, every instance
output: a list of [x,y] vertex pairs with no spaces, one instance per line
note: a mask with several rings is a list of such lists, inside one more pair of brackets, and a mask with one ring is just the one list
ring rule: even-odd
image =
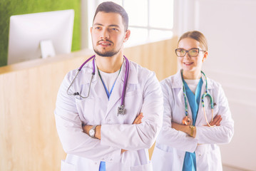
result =
[[[203,93],[201,101],[202,101],[202,105],[203,105],[203,113],[205,114],[205,120],[206,123],[208,124],[209,127],[214,127],[214,125],[210,125],[210,123],[208,123],[207,120],[207,116],[205,113],[205,98],[208,96],[210,98],[210,107],[212,108],[212,120],[213,121],[213,96],[210,95],[209,90],[208,90],[208,83],[207,83],[207,77],[205,76],[205,73],[203,73],[203,71],[201,71],[201,73],[203,74],[203,76],[205,77],[205,93]],[[183,77],[183,71],[181,71],[181,77]],[[191,120],[190,118],[188,118],[188,98],[185,92],[185,85],[183,83],[183,96],[184,96],[184,100],[185,100],[185,117],[183,118],[183,124],[184,125],[190,125],[191,124]]]

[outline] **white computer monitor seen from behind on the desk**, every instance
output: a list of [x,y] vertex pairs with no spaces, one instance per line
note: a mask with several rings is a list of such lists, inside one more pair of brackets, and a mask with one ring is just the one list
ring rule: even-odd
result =
[[8,65],[70,53],[73,9],[11,16]]

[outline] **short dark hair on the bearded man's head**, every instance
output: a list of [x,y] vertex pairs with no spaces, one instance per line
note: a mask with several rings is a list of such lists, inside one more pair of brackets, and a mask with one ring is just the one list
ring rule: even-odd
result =
[[112,1],[106,1],[98,5],[96,12],[93,17],[93,21],[95,19],[95,16],[98,14],[98,12],[106,12],[106,13],[117,13],[122,16],[123,19],[123,26],[125,27],[125,31],[128,29],[128,14],[126,13],[126,10],[123,9],[122,6],[113,3]]

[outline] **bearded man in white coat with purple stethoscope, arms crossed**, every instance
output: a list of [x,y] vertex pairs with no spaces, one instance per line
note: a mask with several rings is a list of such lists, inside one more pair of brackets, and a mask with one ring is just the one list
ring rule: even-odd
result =
[[148,148],[163,122],[163,95],[152,71],[123,56],[129,36],[123,7],[100,4],[91,27],[96,57],[77,76],[70,71],[58,91],[61,170],[152,170]]

